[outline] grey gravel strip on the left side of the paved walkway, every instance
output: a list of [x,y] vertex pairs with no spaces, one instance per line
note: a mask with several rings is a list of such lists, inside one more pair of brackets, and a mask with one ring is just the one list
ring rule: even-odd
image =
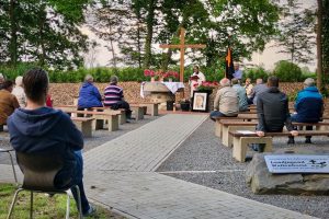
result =
[[[105,129],[93,131],[92,138],[84,138],[83,151],[91,150],[92,148],[95,148],[110,140],[113,140],[114,138],[117,138],[131,130],[139,128],[140,126],[144,126],[145,124],[155,120],[156,118],[158,117],[146,115],[141,120],[132,120],[131,123],[120,125],[120,130],[116,131],[109,132]],[[11,148],[11,145],[9,142],[9,134],[7,131],[0,132],[0,148]],[[0,153],[0,164],[10,164],[9,155],[7,153]]]

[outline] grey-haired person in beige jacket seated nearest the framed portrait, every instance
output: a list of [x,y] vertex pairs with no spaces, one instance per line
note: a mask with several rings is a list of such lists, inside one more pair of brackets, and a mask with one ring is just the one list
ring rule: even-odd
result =
[[220,80],[220,87],[215,96],[214,111],[211,113],[211,118],[215,120],[223,116],[237,116],[239,113],[239,100],[235,89],[230,87],[230,81],[227,78]]

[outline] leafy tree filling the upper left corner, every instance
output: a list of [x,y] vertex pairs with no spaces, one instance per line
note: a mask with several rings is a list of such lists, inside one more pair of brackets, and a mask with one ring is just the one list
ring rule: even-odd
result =
[[89,0],[10,0],[0,4],[1,49],[18,61],[36,61],[41,66],[72,68],[82,62],[81,50],[87,36],[79,26]]

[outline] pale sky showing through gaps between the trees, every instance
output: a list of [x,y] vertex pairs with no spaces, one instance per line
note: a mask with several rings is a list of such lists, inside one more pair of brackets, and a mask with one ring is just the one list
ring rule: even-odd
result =
[[[283,2],[283,1],[282,1]],[[303,7],[309,8],[311,5],[316,5],[315,0],[299,0]],[[112,57],[110,51],[104,47],[106,45],[106,42],[98,38],[88,27],[82,27],[82,33],[87,34],[90,39],[97,41],[100,46],[97,48],[94,55],[95,55],[95,61],[93,62],[93,67],[95,66],[106,66],[109,62],[109,59]],[[115,44],[116,47],[116,53],[118,53],[117,45]],[[157,47],[157,45],[154,45],[154,47]],[[274,42],[270,42],[266,44],[265,49],[262,53],[253,53],[252,54],[252,59],[249,61],[245,59],[241,62],[241,67],[243,66],[249,66],[249,65],[257,65],[257,66],[262,66],[266,70],[272,70],[274,69],[275,62],[280,60],[286,60],[288,59],[288,55],[285,54],[279,54],[277,51],[281,48],[277,46],[274,46]],[[315,71],[316,69],[316,46],[314,47],[314,60],[311,60],[310,64],[307,65],[307,67],[311,70]],[[90,57],[90,54],[86,55],[87,59]],[[189,61],[186,61],[186,65],[189,65]],[[87,67],[91,67],[90,64],[86,64]],[[304,67],[300,65],[300,67]]]

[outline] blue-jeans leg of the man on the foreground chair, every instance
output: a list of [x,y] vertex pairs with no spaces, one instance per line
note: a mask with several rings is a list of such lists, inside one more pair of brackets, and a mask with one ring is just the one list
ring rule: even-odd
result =
[[[77,171],[76,174],[73,175],[73,185],[78,185],[79,189],[80,189],[80,197],[81,197],[81,207],[82,207],[82,214],[87,214],[90,206],[89,206],[89,201],[87,199],[86,193],[84,193],[84,188],[83,188],[83,182],[82,182],[82,177],[83,177],[83,160],[82,160],[82,153],[81,150],[79,151],[75,151],[75,155],[77,159]],[[78,205],[78,193],[76,187],[71,188],[72,195],[75,197],[75,200]]]

